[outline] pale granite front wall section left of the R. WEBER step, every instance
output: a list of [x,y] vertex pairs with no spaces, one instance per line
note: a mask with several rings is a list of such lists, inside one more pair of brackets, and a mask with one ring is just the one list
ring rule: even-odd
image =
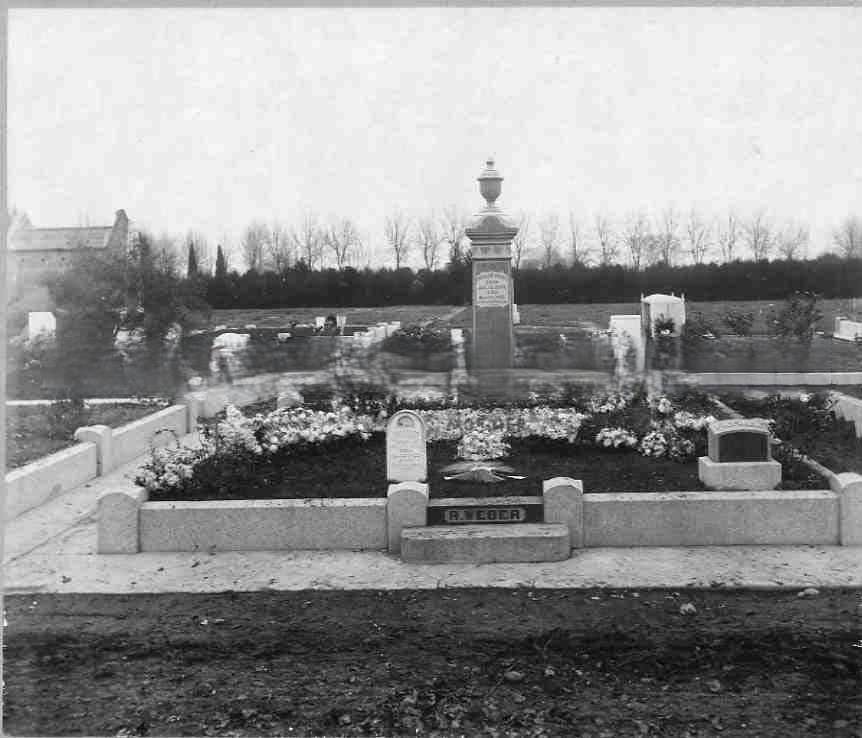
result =
[[141,551],[385,549],[386,500],[147,502]]

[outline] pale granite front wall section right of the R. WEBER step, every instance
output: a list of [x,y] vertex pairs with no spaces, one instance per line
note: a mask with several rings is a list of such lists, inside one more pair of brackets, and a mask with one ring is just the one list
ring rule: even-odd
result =
[[830,490],[584,495],[586,546],[838,544]]

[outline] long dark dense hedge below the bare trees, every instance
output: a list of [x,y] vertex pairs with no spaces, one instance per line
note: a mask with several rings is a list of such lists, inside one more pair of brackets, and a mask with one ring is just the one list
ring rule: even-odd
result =
[[[435,270],[309,269],[237,271],[198,275],[213,308],[373,307],[466,305],[471,300],[469,255]],[[522,304],[635,302],[642,294],[684,293],[690,300],[779,300],[793,292],[824,298],[862,293],[862,258],[826,254],[808,261],[740,261],[724,264],[664,263],[642,269],[618,264],[557,264],[514,272]]]

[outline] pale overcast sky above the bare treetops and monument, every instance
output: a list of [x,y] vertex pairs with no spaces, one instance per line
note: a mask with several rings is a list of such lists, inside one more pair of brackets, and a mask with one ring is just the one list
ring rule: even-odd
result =
[[[862,214],[862,8],[12,9],[10,205],[237,243],[499,205]],[[238,257],[237,257],[238,258]]]

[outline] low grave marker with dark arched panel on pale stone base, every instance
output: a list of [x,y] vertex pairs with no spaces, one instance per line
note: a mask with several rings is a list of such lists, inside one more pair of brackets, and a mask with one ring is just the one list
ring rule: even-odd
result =
[[698,476],[711,489],[775,489],[781,464],[772,458],[769,422],[737,418],[711,423],[708,456],[698,459]]

